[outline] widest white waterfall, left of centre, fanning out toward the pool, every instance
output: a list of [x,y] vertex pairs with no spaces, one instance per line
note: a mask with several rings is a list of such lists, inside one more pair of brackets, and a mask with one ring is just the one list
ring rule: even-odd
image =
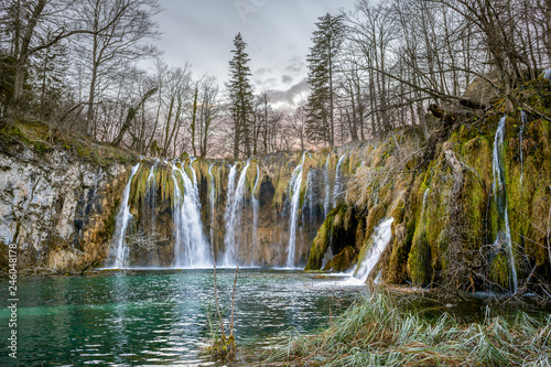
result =
[[[174,180],[174,267],[205,268],[212,266],[208,244],[203,233],[197,176],[190,161],[193,181],[175,164],[172,165]],[[184,184],[184,196],[180,191],[176,174]]]

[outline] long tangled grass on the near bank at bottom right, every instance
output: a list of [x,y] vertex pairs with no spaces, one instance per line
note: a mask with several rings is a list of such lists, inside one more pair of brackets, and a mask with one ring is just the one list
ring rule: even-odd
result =
[[266,366],[548,366],[551,315],[493,316],[461,324],[449,314],[424,320],[375,293],[316,335],[274,347]]

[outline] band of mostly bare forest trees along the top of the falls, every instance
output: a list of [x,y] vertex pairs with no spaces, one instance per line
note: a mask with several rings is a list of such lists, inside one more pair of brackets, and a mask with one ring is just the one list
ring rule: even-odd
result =
[[[547,0],[357,1],[318,18],[311,91],[274,109],[241,34],[229,80],[163,62],[156,0],[2,0],[0,119],[41,121],[151,156],[248,158],[365,141],[487,109],[551,57]],[[530,110],[529,106],[521,106]]]

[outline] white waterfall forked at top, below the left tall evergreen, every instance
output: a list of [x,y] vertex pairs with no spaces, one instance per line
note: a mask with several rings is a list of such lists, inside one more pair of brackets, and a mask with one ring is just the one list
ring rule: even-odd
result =
[[[239,175],[239,181],[237,187],[235,186],[235,177],[237,175],[237,163],[231,166],[229,171],[229,182],[228,182],[228,198],[226,202],[226,212],[224,213],[224,219],[226,220],[226,236],[224,237],[224,244],[226,246],[226,252],[224,253],[224,260],[222,266],[231,267],[237,265],[237,251],[240,245],[240,225],[241,225],[241,212],[242,204],[245,201],[245,181],[247,177],[247,170],[249,169],[249,161],[241,171]],[[236,231],[237,229],[237,231]],[[236,244],[237,242],[237,244]],[[237,245],[237,246],[236,246]]]

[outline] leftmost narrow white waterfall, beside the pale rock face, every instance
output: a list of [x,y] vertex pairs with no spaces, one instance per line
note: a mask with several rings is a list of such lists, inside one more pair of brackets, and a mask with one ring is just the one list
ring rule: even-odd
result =
[[130,214],[130,206],[128,205],[128,201],[130,198],[130,187],[132,186],[132,179],[138,172],[140,168],[140,163],[136,164],[132,168],[130,173],[130,179],[128,180],[127,186],[125,187],[125,192],[122,194],[122,202],[120,203],[120,209],[117,214],[117,222],[115,225],[115,240],[117,241],[117,248],[115,251],[115,259],[111,268],[114,269],[122,269],[128,261],[128,246],[125,239],[127,235],[128,223],[132,215]]

